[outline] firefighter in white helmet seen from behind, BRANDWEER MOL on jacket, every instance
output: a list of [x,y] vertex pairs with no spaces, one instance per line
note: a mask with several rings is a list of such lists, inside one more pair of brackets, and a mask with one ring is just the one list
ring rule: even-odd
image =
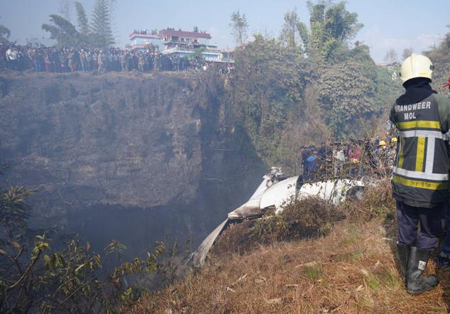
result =
[[397,249],[402,278],[412,295],[439,282],[437,276],[426,277],[423,272],[442,234],[441,220],[449,198],[445,134],[449,131],[450,99],[432,90],[432,70],[431,60],[424,55],[406,58],[400,75],[405,94],[390,111],[390,121],[399,130],[392,180]]

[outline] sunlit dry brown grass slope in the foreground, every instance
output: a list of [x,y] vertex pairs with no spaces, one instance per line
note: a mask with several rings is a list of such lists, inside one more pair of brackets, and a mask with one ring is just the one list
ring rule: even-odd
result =
[[[439,274],[441,284],[433,291],[406,293],[393,254],[392,203],[371,200],[371,206],[352,202],[345,207],[364,219],[351,216],[335,222],[331,232],[317,239],[216,253],[199,274],[144,297],[124,312],[448,313],[449,271]],[[373,219],[363,212],[372,213]]]

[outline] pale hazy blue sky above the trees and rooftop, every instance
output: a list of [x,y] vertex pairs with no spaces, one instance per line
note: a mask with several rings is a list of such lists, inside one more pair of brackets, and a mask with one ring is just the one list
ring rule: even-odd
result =
[[[79,0],[89,17],[94,0]],[[57,13],[61,0],[0,0],[0,23],[11,30],[11,40],[48,36],[41,24],[50,13]],[[69,0],[70,3],[73,1]],[[219,48],[233,46],[229,17],[233,11],[246,13],[250,33],[278,36],[286,11],[297,8],[302,21],[308,21],[306,1],[301,0],[116,0],[116,40],[124,46],[133,29],[182,28],[212,34]],[[389,48],[399,56],[404,48],[420,52],[450,31],[449,0],[349,0],[347,9],[358,13],[364,28],[355,40],[371,48],[381,62]],[[71,7],[72,23],[76,13]]]

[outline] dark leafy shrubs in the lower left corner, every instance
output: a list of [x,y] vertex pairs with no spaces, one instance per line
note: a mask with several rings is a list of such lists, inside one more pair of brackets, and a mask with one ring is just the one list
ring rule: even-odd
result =
[[[116,313],[151,286],[152,276],[163,283],[175,279],[176,245],[158,242],[146,259],[132,261],[121,260],[126,247],[116,240],[95,252],[89,242],[55,228],[31,227],[33,208],[26,200],[32,194],[0,188],[0,313]],[[117,266],[105,267],[108,260]]]

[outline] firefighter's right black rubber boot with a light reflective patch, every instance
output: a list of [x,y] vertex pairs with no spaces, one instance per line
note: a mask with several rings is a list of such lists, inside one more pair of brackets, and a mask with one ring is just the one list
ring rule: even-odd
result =
[[414,296],[434,288],[439,283],[439,280],[435,275],[430,275],[428,277],[422,275],[427,268],[429,255],[429,251],[417,249],[417,247],[410,247],[406,290]]

